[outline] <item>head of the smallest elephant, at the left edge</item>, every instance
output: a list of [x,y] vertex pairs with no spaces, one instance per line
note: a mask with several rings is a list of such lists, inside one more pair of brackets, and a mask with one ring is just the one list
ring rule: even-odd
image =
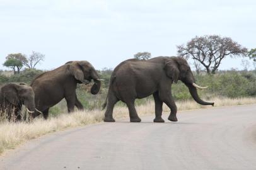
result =
[[34,113],[35,110],[35,94],[33,89],[21,82],[20,84],[9,83],[1,88],[1,95],[4,101],[8,101],[11,105],[25,105],[29,113]]

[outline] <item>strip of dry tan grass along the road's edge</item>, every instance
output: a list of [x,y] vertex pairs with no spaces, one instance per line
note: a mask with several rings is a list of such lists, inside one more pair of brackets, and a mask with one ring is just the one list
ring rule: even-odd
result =
[[[231,105],[249,105],[256,103],[256,98],[214,98],[211,101],[215,102],[215,106],[231,106]],[[211,106],[201,106],[195,103],[195,101],[178,101],[178,110],[194,110],[199,108],[207,108]],[[149,101],[146,105],[137,106],[137,112],[140,116],[148,115],[154,112],[154,102]],[[164,105],[165,112],[169,111],[166,105]],[[70,127],[79,127],[88,125],[91,123],[102,122],[104,111],[83,111],[76,112],[70,115],[62,114],[57,118],[50,118],[45,121],[37,119],[32,123],[9,123],[3,122],[0,125],[0,154],[3,154],[5,150],[15,149],[17,145],[22,144],[26,140],[35,139],[47,133],[56,132],[59,130],[65,130]],[[114,110],[115,118],[124,118],[129,116],[126,107],[116,107]]]

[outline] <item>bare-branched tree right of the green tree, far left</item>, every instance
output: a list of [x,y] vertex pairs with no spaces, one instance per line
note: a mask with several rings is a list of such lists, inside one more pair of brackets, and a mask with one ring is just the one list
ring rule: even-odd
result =
[[35,66],[37,64],[40,64],[41,61],[44,61],[44,59],[45,59],[44,54],[40,54],[40,52],[32,51],[32,54],[30,55],[30,57],[26,59],[26,62],[24,62],[23,64],[30,69],[35,69]]

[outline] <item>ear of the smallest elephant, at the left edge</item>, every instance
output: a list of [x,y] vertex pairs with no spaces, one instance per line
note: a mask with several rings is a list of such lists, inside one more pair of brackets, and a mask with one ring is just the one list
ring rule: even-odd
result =
[[6,84],[1,88],[1,93],[4,96],[4,99],[9,101],[13,105],[18,105],[20,99],[18,98],[18,90],[16,89],[15,84]]

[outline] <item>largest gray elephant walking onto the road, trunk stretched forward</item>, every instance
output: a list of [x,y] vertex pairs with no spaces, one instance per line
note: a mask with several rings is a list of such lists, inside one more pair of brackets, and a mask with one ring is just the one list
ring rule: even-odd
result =
[[163,103],[171,110],[168,120],[177,122],[177,106],[172,97],[173,82],[182,81],[190,91],[194,100],[201,105],[212,105],[202,101],[197,94],[197,89],[192,86],[195,82],[189,64],[182,57],[155,57],[149,60],[129,59],[115,67],[108,89],[108,96],[103,108],[105,122],[115,122],[113,119],[113,106],[121,100],[129,108],[131,122],[141,122],[134,106],[135,99],[146,98],[153,94],[156,118],[154,122],[165,122],[161,118]]

